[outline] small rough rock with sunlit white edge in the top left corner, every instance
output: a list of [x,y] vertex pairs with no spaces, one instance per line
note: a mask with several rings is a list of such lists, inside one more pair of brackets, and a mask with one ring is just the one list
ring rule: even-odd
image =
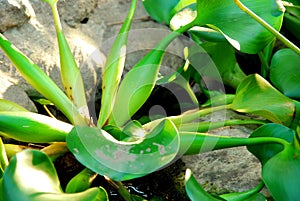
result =
[[31,17],[28,0],[0,1],[0,32],[23,25]]

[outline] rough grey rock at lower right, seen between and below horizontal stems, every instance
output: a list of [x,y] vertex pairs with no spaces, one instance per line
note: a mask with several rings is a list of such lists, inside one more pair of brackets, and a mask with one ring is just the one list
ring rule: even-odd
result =
[[[203,121],[249,118],[233,111],[222,111],[202,118]],[[220,136],[248,137],[255,126],[231,126],[212,130],[209,133]],[[261,181],[261,165],[246,147],[235,147],[183,156],[182,160],[192,170],[198,182],[211,193],[228,193],[250,190]],[[263,191],[270,196],[268,191]]]

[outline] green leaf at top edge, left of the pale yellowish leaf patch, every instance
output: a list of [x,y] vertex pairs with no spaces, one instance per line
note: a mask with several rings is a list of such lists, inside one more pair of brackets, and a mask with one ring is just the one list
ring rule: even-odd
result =
[[169,24],[171,18],[176,13],[174,8],[180,0],[143,0],[143,5],[148,14],[162,24]]

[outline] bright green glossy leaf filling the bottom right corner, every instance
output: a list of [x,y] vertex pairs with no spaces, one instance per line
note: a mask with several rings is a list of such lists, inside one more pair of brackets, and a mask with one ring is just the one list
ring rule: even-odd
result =
[[275,200],[295,201],[300,197],[300,152],[292,146],[272,157],[262,167],[262,178]]

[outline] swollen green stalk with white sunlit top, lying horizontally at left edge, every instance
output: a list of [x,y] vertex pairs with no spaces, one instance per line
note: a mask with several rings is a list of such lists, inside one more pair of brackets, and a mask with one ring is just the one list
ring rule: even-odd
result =
[[65,141],[72,125],[32,112],[0,112],[0,132],[32,143]]

